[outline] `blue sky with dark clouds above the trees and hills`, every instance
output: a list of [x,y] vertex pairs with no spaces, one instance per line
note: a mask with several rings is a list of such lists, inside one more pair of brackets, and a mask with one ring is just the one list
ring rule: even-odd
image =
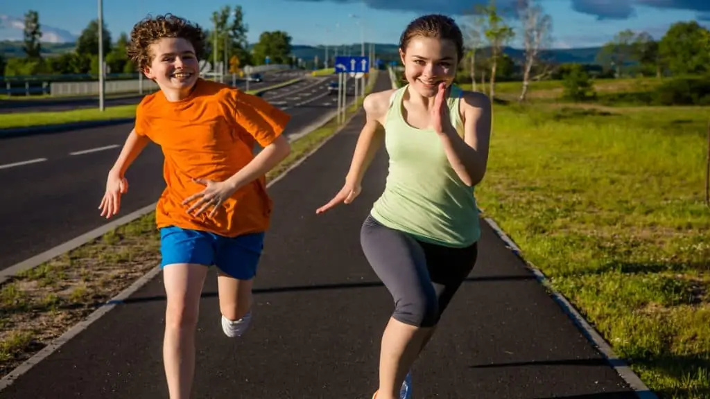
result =
[[[97,0],[3,1],[0,40],[21,39],[21,21],[38,11],[46,40],[71,40],[97,18]],[[466,11],[486,0],[104,0],[104,23],[117,38],[151,13],[173,13],[209,28],[209,17],[224,5],[241,5],[255,43],[263,31],[288,32],[295,45],[367,42],[396,44],[409,21],[425,13],[446,13],[459,22]],[[499,7],[515,0],[496,0]],[[630,28],[659,39],[677,21],[710,26],[710,0],[538,0],[552,17],[553,48],[603,45]],[[520,40],[511,43],[520,48]]]

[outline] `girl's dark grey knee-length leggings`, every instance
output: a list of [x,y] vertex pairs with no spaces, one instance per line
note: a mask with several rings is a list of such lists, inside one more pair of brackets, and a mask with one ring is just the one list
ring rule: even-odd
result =
[[370,265],[395,302],[392,317],[416,327],[433,327],[478,256],[477,243],[452,248],[417,241],[368,216],[360,242]]

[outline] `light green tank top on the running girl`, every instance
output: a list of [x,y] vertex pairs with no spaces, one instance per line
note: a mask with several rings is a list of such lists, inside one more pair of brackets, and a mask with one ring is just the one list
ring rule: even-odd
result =
[[[451,167],[441,138],[432,129],[415,129],[402,114],[407,86],[391,98],[385,119],[389,174],[385,190],[371,210],[381,224],[420,241],[466,247],[481,237],[474,188]],[[452,125],[464,135],[459,114],[461,89],[452,85],[447,99]]]

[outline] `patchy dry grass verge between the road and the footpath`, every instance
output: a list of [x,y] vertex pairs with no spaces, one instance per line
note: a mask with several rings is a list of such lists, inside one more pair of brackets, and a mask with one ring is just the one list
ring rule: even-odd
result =
[[[376,73],[366,92],[372,89]],[[353,116],[361,103],[351,105],[347,116]],[[332,119],[291,143],[290,155],[268,173],[267,180],[338,128],[337,119]],[[160,234],[151,212],[0,285],[0,378],[155,268],[159,248]]]

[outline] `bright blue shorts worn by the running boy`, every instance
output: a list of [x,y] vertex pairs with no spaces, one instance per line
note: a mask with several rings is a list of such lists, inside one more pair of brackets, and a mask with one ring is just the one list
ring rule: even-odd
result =
[[250,280],[256,275],[264,233],[234,238],[169,226],[160,229],[160,268],[174,263],[217,266],[226,275]]

